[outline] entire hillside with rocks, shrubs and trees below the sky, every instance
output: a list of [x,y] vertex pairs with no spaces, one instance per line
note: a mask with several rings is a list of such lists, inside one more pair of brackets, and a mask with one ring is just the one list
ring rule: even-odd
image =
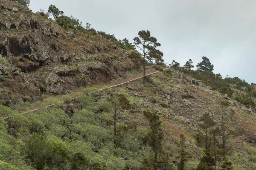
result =
[[0,0],[0,170],[256,169],[254,83],[29,2]]

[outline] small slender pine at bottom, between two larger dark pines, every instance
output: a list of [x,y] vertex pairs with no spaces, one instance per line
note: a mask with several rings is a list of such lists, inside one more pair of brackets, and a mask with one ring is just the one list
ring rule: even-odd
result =
[[178,163],[178,170],[184,170],[185,163],[188,160],[188,152],[186,151],[186,144],[185,144],[185,136],[183,134],[180,134],[180,142],[178,143],[179,150],[179,157],[180,162]]

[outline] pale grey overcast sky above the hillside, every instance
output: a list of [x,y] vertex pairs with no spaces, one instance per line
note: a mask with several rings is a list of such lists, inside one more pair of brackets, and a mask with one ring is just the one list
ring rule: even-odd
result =
[[97,31],[133,42],[148,30],[167,63],[202,56],[214,73],[256,82],[256,0],[30,0],[33,12],[52,4]]

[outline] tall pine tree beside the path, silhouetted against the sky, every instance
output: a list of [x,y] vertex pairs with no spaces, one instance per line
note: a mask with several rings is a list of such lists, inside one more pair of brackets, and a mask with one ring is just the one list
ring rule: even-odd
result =
[[151,37],[149,31],[142,30],[138,33],[138,35],[139,37],[134,38],[134,44],[142,51],[141,56],[143,57],[143,85],[145,85],[146,62],[152,62],[152,60],[163,62],[163,52],[157,50],[157,47],[160,47],[161,44],[157,42],[155,37]]

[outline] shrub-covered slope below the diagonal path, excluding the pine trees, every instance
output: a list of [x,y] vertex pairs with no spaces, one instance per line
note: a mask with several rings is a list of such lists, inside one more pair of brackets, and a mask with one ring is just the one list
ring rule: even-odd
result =
[[[164,150],[172,153],[172,156],[166,157],[166,169],[176,169],[173,164],[178,161],[176,142],[182,133],[186,137],[189,152],[186,169],[192,170],[204,155],[204,147],[200,146],[196,139],[196,134],[202,132],[199,119],[205,113],[210,113],[216,126],[219,126],[220,102],[226,101],[234,111],[234,125],[229,128],[238,128],[243,132],[241,136],[230,138],[227,142],[227,156],[233,162],[233,170],[253,170],[256,167],[256,114],[227,96],[211,91],[208,86],[186,74],[176,70],[164,71],[149,76],[145,86],[142,79],[138,79],[112,89],[106,88],[102,92],[84,89],[85,94],[91,91],[93,93],[90,95],[82,95],[74,100],[65,95],[65,104],[61,104],[57,99],[47,100],[46,102],[54,104],[52,108],[43,108],[42,103],[37,102],[37,107],[41,109],[36,113],[20,115],[19,111],[23,111],[22,105],[18,107],[18,111],[2,107],[0,115],[9,116],[9,133],[15,138],[5,133],[7,122],[3,122],[1,133],[9,136],[9,141],[5,138],[1,142],[9,148],[18,148],[16,159],[20,159],[19,164],[13,164],[10,160],[14,158],[12,155],[6,155],[5,148],[0,153],[6,157],[3,160],[5,164],[20,169],[29,164],[30,168],[40,169],[37,158],[38,155],[43,155],[40,159],[51,159],[55,162],[45,162],[45,167],[69,169],[74,155],[81,153],[89,161],[90,169],[145,169],[148,165],[144,160],[150,162],[154,159],[146,138],[148,120],[143,116],[143,111],[150,109],[160,115]],[[123,110],[122,115],[118,117],[116,149],[113,147],[113,105],[107,100],[113,92],[125,94],[132,105],[130,110]],[[20,142],[20,147],[14,145],[15,141]],[[37,144],[34,141],[37,141]],[[59,145],[63,146],[62,150],[59,150]],[[40,149],[42,146],[49,151],[46,149],[43,152]],[[51,153],[51,150],[56,150],[56,153]]]

